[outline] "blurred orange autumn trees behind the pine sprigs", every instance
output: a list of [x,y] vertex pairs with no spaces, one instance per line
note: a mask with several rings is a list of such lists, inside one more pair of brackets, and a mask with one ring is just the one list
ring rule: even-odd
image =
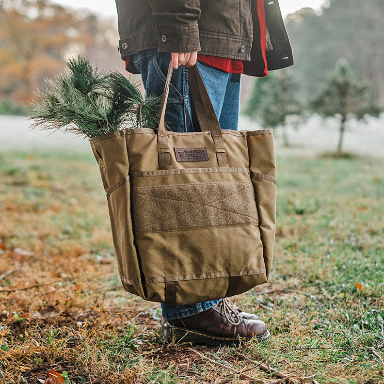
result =
[[0,110],[17,112],[36,98],[44,79],[71,56],[87,56],[103,69],[121,66],[114,23],[47,0],[0,0],[0,37]]

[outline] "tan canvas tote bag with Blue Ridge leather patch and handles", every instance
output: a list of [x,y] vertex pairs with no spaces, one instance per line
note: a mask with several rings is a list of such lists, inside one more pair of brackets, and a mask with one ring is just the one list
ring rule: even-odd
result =
[[276,179],[272,129],[221,130],[196,65],[189,68],[201,132],[119,130],[90,139],[124,288],[192,304],[267,282]]

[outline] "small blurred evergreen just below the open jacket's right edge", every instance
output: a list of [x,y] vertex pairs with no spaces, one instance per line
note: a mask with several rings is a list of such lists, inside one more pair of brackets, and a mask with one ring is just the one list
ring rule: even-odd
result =
[[282,128],[284,145],[288,146],[287,125],[289,117],[302,116],[303,109],[296,97],[297,85],[280,71],[279,75],[269,74],[256,80],[252,95],[244,111],[263,128]]

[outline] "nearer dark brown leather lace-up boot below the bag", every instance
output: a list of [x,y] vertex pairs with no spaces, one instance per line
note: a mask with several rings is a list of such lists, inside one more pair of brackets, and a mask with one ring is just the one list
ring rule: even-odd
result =
[[196,315],[176,320],[161,321],[164,336],[176,341],[210,345],[232,344],[253,339],[256,343],[266,341],[270,333],[264,321],[248,319],[228,299]]

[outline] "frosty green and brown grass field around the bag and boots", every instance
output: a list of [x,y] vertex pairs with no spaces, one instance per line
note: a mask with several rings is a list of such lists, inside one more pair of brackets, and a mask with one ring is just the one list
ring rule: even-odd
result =
[[384,383],[384,159],[277,163],[274,271],[235,298],[271,341],[191,349],[121,287],[92,155],[2,152],[0,383]]

